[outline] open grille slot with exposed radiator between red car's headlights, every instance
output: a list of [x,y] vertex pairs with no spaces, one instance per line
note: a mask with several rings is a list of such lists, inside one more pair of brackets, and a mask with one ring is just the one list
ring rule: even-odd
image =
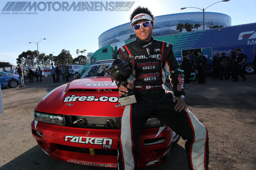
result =
[[[74,121],[78,123],[73,124]],[[90,129],[120,129],[121,117],[100,117],[100,116],[65,116],[67,126],[74,128]]]

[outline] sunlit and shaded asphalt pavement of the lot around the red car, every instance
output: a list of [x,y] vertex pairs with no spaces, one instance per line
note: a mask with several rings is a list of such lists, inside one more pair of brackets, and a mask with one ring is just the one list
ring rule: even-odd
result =
[[[246,82],[206,77],[205,85],[192,82],[185,87],[189,110],[208,128],[210,170],[256,167],[256,74],[246,77]],[[31,134],[33,111],[48,92],[67,82],[52,83],[51,76],[43,77],[43,82],[28,82],[26,79],[24,88],[2,89],[5,112],[0,114],[0,170],[106,169],[58,161],[40,151]],[[170,82],[165,84],[171,88]],[[184,140],[171,149],[164,164],[141,169],[187,170]]]

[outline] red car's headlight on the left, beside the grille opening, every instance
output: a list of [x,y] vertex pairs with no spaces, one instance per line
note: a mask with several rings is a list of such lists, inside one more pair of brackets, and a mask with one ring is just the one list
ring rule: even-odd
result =
[[45,123],[65,126],[65,120],[63,115],[53,115],[49,113],[34,112],[34,119]]

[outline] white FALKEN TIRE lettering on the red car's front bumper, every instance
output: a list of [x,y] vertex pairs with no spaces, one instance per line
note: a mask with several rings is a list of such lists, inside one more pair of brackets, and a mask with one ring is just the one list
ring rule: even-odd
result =
[[80,136],[65,136],[65,142],[83,143],[91,145],[102,145],[104,149],[111,149],[113,139],[110,138],[94,138],[94,137],[80,137]]

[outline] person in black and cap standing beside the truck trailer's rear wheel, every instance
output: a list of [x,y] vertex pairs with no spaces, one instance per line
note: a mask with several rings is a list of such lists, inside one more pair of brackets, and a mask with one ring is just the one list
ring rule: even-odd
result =
[[234,80],[232,82],[238,82],[238,74],[243,78],[243,81],[246,80],[245,75],[243,75],[243,70],[242,70],[242,65],[245,63],[247,56],[241,53],[241,49],[238,48],[235,50],[236,56],[235,56],[235,61],[234,61],[234,66],[233,66],[233,71],[234,71]]

